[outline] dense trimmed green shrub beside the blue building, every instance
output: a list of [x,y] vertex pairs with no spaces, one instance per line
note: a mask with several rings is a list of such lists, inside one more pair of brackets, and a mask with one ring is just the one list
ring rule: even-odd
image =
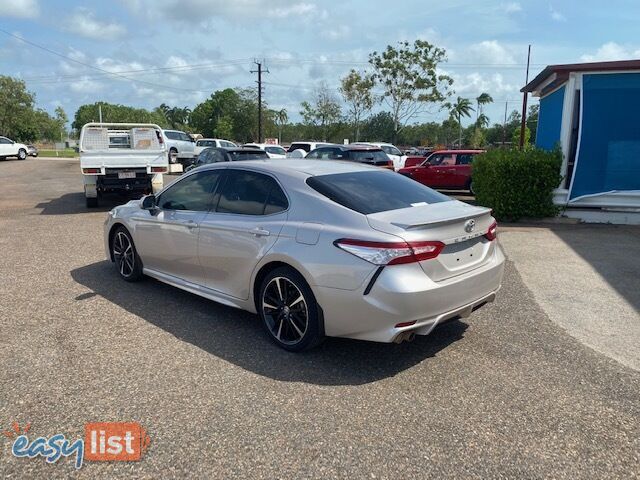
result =
[[555,216],[552,192],[562,180],[561,164],[559,150],[489,150],[473,161],[476,201],[500,220]]

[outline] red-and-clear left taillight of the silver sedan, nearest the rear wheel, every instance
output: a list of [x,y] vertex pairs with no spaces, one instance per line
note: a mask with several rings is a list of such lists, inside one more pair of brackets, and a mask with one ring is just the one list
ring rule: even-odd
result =
[[442,242],[369,242],[342,238],[334,245],[374,265],[398,265],[436,258]]

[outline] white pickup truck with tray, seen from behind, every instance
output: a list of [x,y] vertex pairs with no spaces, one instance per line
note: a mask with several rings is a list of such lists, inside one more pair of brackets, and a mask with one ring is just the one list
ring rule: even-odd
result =
[[155,193],[169,171],[167,145],[155,124],[87,123],[79,148],[89,208],[97,207],[107,193]]

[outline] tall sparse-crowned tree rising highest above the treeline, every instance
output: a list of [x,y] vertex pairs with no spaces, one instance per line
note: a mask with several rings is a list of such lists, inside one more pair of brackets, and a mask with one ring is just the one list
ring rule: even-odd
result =
[[384,93],[382,98],[391,108],[394,140],[402,128],[429,104],[443,102],[453,80],[437,72],[438,64],[446,61],[446,52],[427,41],[413,45],[400,42],[398,48],[369,55],[374,79]]

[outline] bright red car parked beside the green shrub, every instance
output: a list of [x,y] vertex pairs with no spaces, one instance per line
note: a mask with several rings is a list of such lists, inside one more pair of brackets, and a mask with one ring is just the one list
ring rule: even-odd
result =
[[470,190],[473,157],[484,150],[438,150],[420,165],[405,167],[398,173],[413,178],[428,187],[451,190]]

